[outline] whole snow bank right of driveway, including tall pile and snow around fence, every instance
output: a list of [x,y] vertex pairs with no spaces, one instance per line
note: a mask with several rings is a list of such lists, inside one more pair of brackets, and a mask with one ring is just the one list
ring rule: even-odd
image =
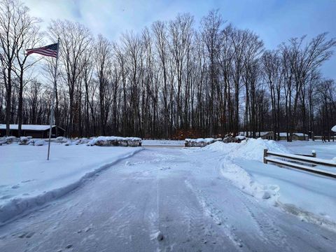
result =
[[[307,144],[307,143],[306,143]],[[289,144],[286,145],[289,148]],[[309,153],[302,146],[290,148],[295,153]],[[335,153],[336,144],[314,145],[321,152]],[[216,142],[202,149],[221,153],[220,172],[244,193],[284,211],[295,214],[302,221],[309,221],[336,230],[336,181],[324,176],[295,169],[265,165],[263,150],[290,153],[288,148],[275,141],[248,139],[241,144]],[[320,152],[318,152],[320,153]],[[331,155],[331,154],[330,154]],[[335,154],[333,154],[335,155]]]

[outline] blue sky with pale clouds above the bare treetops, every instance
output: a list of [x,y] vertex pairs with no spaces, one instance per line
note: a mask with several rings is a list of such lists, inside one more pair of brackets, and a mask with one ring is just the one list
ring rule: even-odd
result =
[[[211,9],[241,29],[251,29],[267,49],[291,37],[311,38],[324,31],[336,38],[336,0],[23,0],[31,14],[42,18],[83,23],[94,34],[117,40],[126,30],[141,31],[156,20],[172,20],[190,13],[198,26]],[[326,78],[336,79],[336,54],[322,68]]]

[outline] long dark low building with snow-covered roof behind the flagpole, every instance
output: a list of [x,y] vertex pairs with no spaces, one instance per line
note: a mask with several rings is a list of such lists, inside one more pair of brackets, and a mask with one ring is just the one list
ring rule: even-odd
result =
[[[10,125],[10,136],[18,137],[18,125]],[[22,125],[22,137],[48,138],[50,125]],[[52,126],[51,137],[64,137],[65,130],[57,125]],[[0,124],[0,137],[6,135],[6,124]]]

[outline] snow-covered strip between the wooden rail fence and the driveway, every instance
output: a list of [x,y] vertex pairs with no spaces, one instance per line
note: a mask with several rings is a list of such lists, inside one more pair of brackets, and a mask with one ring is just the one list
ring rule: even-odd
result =
[[[265,165],[254,160],[246,162],[236,159],[234,162],[237,169],[248,174],[251,184],[258,183],[270,192],[269,202],[274,206],[295,214],[302,221],[336,230],[335,179],[296,169]],[[227,167],[224,169],[227,170]],[[244,189],[252,195],[258,192],[253,188]]]

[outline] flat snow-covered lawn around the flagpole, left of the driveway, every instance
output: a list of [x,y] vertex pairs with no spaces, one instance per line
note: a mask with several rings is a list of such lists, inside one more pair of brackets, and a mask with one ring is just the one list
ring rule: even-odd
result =
[[85,179],[142,148],[87,148],[83,145],[1,146],[0,225],[77,188]]

